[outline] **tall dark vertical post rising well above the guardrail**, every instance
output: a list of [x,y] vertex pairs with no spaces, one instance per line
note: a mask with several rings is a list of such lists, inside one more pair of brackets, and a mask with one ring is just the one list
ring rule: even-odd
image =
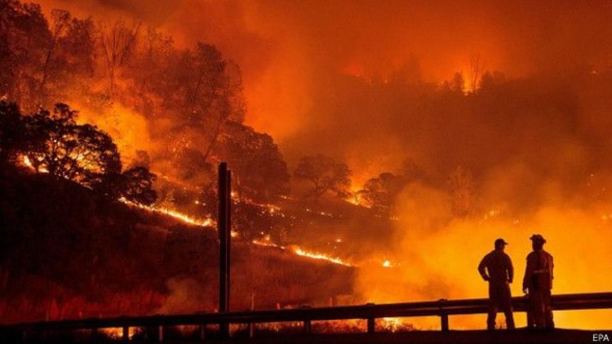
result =
[[[226,162],[218,168],[218,221],[219,232],[219,312],[230,310],[230,243],[231,243],[231,172]],[[219,324],[223,339],[230,336],[228,323]]]

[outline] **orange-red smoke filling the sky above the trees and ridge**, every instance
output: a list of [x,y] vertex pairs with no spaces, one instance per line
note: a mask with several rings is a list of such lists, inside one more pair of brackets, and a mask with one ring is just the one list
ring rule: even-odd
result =
[[[330,73],[385,78],[420,65],[425,81],[481,67],[510,77],[576,67],[609,68],[612,42],[606,2],[545,1],[79,1],[45,0],[76,15],[135,18],[166,29],[177,42],[220,47],[244,71],[247,124],[292,154],[316,140],[310,127],[334,120],[317,108]],[[468,80],[469,83],[472,80]],[[321,112],[323,111],[323,112]],[[314,116],[313,116],[314,115]],[[363,121],[376,113],[356,114]],[[347,150],[349,148],[346,148]],[[347,153],[347,152],[344,152]]]

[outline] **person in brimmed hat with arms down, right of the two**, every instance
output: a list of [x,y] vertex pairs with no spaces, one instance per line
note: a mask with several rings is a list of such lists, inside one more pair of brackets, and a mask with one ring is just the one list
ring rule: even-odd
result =
[[553,329],[553,310],[550,307],[553,288],[553,256],[543,249],[546,243],[540,234],[529,239],[533,251],[527,256],[527,267],[523,279],[523,293],[528,293],[529,308],[527,326]]

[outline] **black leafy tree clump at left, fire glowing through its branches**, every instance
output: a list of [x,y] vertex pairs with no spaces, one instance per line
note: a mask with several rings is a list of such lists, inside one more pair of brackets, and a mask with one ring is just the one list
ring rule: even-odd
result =
[[155,175],[146,166],[121,171],[113,139],[94,125],[77,124],[78,112],[58,103],[53,111],[22,116],[15,103],[0,101],[2,162],[31,166],[37,173],[68,179],[116,199],[152,204]]

